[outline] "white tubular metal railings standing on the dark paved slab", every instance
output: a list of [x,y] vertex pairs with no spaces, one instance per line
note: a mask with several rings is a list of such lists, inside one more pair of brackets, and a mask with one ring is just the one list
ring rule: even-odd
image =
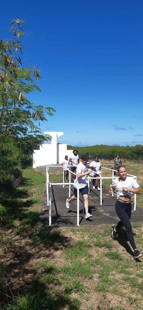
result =
[[[75,165],[77,166],[77,165]],[[74,167],[75,167],[74,166]],[[62,167],[63,168],[63,183],[52,183],[52,182],[49,182],[49,167]],[[67,167],[71,167],[71,166],[67,166]],[[73,166],[72,166],[73,167]],[[112,171],[112,177],[102,177],[101,174],[97,173],[99,175],[99,178],[100,178],[100,206],[102,206],[102,179],[118,179],[118,177],[114,177],[114,171],[115,172],[118,172],[117,170],[113,170],[113,169],[109,169],[109,168],[106,168],[106,167],[101,167],[102,169],[106,169],[106,170],[110,170]],[[65,183],[64,182],[64,170],[68,170],[70,172],[69,174],[69,183]],[[88,169],[89,170],[89,169]],[[95,172],[92,170],[92,172]],[[47,206],[49,206],[49,225],[51,226],[51,185],[63,185],[63,187],[65,185],[69,185],[69,197],[71,197],[71,185],[74,185],[76,188],[77,188],[77,226],[79,226],[79,188],[76,184],[73,184],[71,183],[71,173],[73,175],[76,175],[76,173],[72,172],[71,170],[69,170],[69,168],[64,168],[64,166],[54,166],[54,165],[51,165],[51,166],[46,166],[46,190],[47,190]],[[136,175],[130,175],[127,173],[127,175],[131,176],[133,179],[135,179],[137,181],[137,176]],[[87,177],[88,179],[88,187],[89,187],[89,181],[91,179],[99,179],[98,177]],[[49,186],[50,186],[50,197],[49,197]],[[134,210],[136,210],[136,194],[134,194]],[[112,196],[114,196],[114,193],[112,193]],[[82,211],[84,212],[84,198],[83,198],[83,209]]]

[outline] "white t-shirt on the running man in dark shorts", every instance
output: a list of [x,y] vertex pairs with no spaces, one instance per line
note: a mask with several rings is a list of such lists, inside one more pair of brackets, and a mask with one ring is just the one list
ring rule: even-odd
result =
[[77,174],[79,173],[85,173],[87,172],[87,165],[83,165],[82,162],[80,162],[77,165],[76,168],[76,179],[74,180],[74,184],[78,186],[78,188],[84,188],[86,185],[88,185],[88,180],[86,179],[86,175],[82,176],[81,178],[77,177]]

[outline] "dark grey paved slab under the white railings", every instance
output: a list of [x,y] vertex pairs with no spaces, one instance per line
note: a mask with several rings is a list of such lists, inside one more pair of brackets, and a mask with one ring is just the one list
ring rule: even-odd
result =
[[[54,182],[56,183],[56,182]],[[91,182],[90,182],[91,183]],[[119,218],[115,211],[116,195],[114,197],[109,196],[108,189],[103,186],[102,188],[102,201],[100,206],[100,192],[97,188],[92,188],[90,185],[89,193],[89,213],[92,214],[92,218],[85,220],[85,214],[82,213],[82,196],[80,195],[80,226],[97,225],[97,224],[117,224]],[[71,186],[71,194],[73,187]],[[69,186],[66,185],[54,185],[52,186],[52,227],[59,226],[76,226],[77,224],[77,201],[73,201],[69,209],[66,208],[66,199],[69,196]],[[131,222],[141,222],[143,220],[143,211],[140,208],[133,210]],[[46,187],[42,195],[41,202],[41,225],[42,227],[48,227],[49,225],[49,206],[47,206],[47,193]]]

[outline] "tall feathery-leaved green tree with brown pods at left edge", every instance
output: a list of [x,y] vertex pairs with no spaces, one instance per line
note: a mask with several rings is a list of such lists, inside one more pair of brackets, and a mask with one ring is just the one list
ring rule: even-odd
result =
[[0,181],[22,161],[30,162],[33,148],[51,138],[42,135],[38,126],[55,112],[28,100],[29,93],[41,92],[35,84],[40,74],[33,66],[22,66],[23,26],[24,20],[12,20],[13,38],[0,40]]

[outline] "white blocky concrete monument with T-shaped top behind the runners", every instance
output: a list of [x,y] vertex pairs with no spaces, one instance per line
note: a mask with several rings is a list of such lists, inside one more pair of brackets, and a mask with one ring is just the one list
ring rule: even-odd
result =
[[67,155],[72,155],[73,150],[67,150],[67,144],[57,144],[57,138],[64,133],[59,131],[45,131],[44,135],[52,137],[51,144],[40,145],[40,150],[33,150],[33,168],[46,165],[61,164]]

